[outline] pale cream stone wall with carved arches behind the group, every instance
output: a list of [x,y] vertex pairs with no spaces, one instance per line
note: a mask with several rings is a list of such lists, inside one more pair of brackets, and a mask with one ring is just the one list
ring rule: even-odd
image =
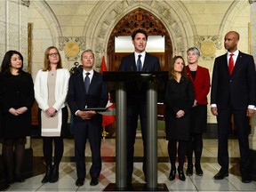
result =
[[[42,68],[44,50],[50,45],[60,49],[65,68],[72,68],[74,61],[79,60],[79,53],[91,48],[96,52],[96,70],[100,70],[112,29],[127,12],[138,7],[163,21],[172,38],[173,54],[186,57],[188,47],[199,47],[200,65],[209,68],[211,75],[214,58],[226,52],[223,37],[229,30],[240,33],[239,49],[249,52],[247,0],[32,1],[28,9],[28,22],[33,26],[32,75]],[[70,57],[65,48],[72,48],[74,41],[78,48]],[[216,123],[208,109],[208,123]]]

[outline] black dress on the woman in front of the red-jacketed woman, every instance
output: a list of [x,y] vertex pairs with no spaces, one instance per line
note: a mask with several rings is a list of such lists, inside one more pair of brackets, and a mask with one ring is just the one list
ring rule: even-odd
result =
[[[166,140],[189,139],[190,111],[194,100],[193,85],[189,78],[181,77],[180,83],[175,79],[167,82],[164,101]],[[180,109],[185,112],[185,116],[176,118]]]

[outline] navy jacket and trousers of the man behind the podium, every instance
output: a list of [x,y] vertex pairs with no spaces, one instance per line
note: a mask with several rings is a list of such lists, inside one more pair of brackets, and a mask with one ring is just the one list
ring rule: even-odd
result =
[[[134,53],[126,56],[121,61],[119,71],[136,71]],[[146,52],[142,71],[160,71],[159,59]],[[146,91],[147,83],[134,82],[126,84],[127,90],[127,178],[131,180],[133,172],[133,155],[138,116],[142,133],[144,156],[143,172],[146,175]]]

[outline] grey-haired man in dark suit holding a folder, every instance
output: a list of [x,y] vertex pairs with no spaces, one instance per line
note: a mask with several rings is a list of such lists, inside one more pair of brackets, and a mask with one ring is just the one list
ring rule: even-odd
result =
[[103,83],[102,75],[92,68],[94,64],[92,50],[82,52],[81,62],[83,68],[70,76],[68,85],[68,106],[74,116],[76,186],[78,187],[84,185],[84,151],[87,139],[92,150],[92,167],[90,169],[92,180],[90,185],[94,186],[99,183],[102,116],[90,108],[105,108],[108,102],[107,84]]

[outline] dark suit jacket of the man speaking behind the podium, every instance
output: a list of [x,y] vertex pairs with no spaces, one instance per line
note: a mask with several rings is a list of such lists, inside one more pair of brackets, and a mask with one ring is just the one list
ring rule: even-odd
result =
[[[124,57],[121,61],[119,71],[136,71],[136,62],[134,52]],[[143,68],[141,71],[161,71],[159,59],[146,52]],[[129,82],[126,84],[127,90],[127,102],[128,103],[145,103],[147,84],[141,84],[140,82]]]

